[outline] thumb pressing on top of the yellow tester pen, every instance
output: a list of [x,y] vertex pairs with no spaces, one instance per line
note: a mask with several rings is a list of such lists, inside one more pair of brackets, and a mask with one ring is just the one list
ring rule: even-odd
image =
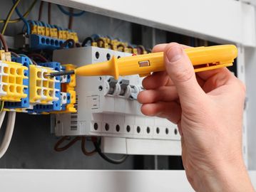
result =
[[195,78],[195,71],[188,55],[178,43],[169,43],[164,51],[165,68],[177,88],[180,102],[202,102],[205,95]]

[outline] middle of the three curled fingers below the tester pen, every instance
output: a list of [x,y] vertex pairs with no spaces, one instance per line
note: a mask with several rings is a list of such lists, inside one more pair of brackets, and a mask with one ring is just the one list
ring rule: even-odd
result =
[[152,102],[170,102],[178,99],[178,92],[174,86],[160,87],[157,90],[144,90],[139,93],[138,102],[152,103]]

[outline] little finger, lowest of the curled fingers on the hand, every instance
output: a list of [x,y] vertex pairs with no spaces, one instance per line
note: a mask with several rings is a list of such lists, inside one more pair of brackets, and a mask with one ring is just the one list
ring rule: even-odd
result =
[[170,122],[180,122],[181,108],[177,102],[156,102],[141,106],[141,112],[148,116],[167,118]]

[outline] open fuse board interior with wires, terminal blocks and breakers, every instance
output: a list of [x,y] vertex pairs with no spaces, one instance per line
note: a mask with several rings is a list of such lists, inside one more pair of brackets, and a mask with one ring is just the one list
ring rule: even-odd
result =
[[[3,114],[16,112],[15,127],[19,127],[14,129],[11,140],[14,146],[10,145],[3,156],[7,163],[0,159],[0,167],[183,169],[177,126],[167,119],[145,117],[140,112],[136,97],[143,90],[143,78],[138,75],[118,80],[111,76],[49,78],[46,74],[73,70],[113,56],[150,53],[158,43],[175,41],[188,46],[212,46],[216,43],[206,40],[215,38],[195,38],[193,33],[173,33],[169,31],[175,30],[119,20],[112,13],[114,9],[109,13],[113,18],[93,14],[98,9],[91,10],[89,6],[84,7],[86,11],[74,9],[83,3],[72,2],[71,7],[66,7],[21,0],[14,10],[19,20],[11,18],[7,25],[4,9],[11,9],[16,2],[6,1],[0,8],[4,29],[1,32],[9,48],[6,50],[1,43],[0,110]],[[217,43],[230,41],[218,39]],[[238,75],[236,65],[232,70]],[[37,144],[34,140],[45,142]],[[100,151],[96,150],[95,142]],[[16,162],[13,153],[19,151],[21,143],[29,152],[24,152],[24,159]],[[87,148],[90,150],[86,151]],[[37,151],[45,151],[51,158],[34,155],[31,160],[30,155]],[[101,159],[102,154],[121,157],[122,164],[109,164]]]

